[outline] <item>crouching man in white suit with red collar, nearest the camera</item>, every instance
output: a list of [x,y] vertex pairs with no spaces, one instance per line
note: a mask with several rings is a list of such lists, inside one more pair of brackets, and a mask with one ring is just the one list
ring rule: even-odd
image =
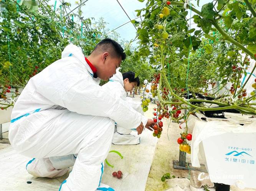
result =
[[99,86],[126,58],[114,40],[104,39],[84,57],[73,44],[61,59],[31,78],[12,111],[9,139],[15,150],[32,157],[27,171],[55,178],[73,166],[60,191],[113,191],[101,183],[114,123],[136,128],[154,122]]

